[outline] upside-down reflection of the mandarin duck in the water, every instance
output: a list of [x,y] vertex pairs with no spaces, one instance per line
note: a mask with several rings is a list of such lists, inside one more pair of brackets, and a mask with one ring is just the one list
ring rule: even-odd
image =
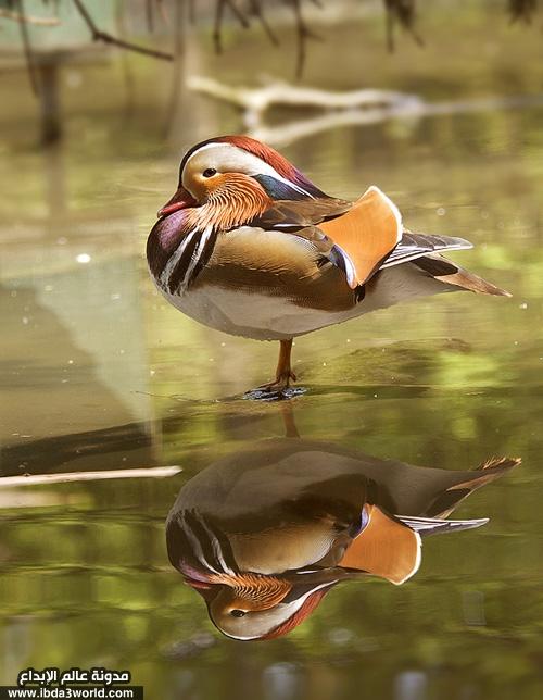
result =
[[446,518],[519,461],[452,472],[294,437],[257,441],[181,488],[166,523],[169,560],[222,633],[273,639],[340,582],[403,584],[422,538],[484,525]]

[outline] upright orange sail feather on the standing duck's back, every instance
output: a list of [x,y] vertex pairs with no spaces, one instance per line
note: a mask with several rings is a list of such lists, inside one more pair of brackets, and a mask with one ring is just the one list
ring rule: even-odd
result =
[[363,285],[402,238],[402,216],[378,187],[370,187],[342,216],[319,228],[350,261],[345,264],[349,286]]

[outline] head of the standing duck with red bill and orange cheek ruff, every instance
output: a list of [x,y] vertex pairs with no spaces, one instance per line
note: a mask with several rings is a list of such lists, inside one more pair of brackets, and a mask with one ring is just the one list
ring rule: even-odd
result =
[[248,136],[219,136],[191,148],[179,184],[159,217],[205,208],[204,224],[230,228],[261,214],[273,200],[327,197],[269,146]]

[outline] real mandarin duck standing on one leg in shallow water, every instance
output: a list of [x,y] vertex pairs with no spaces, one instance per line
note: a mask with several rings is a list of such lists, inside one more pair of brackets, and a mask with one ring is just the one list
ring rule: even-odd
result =
[[406,229],[375,186],[354,203],[330,197],[286,158],[247,136],[198,143],[147,243],[151,276],[206,326],[279,340],[275,380],[295,380],[296,336],[399,301],[467,289],[509,296],[441,255],[463,238]]

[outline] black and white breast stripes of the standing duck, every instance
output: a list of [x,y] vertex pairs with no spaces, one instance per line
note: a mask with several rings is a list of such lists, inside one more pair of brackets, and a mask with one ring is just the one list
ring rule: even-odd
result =
[[207,264],[217,233],[211,227],[194,228],[177,246],[159,276],[161,287],[171,295],[188,289]]

